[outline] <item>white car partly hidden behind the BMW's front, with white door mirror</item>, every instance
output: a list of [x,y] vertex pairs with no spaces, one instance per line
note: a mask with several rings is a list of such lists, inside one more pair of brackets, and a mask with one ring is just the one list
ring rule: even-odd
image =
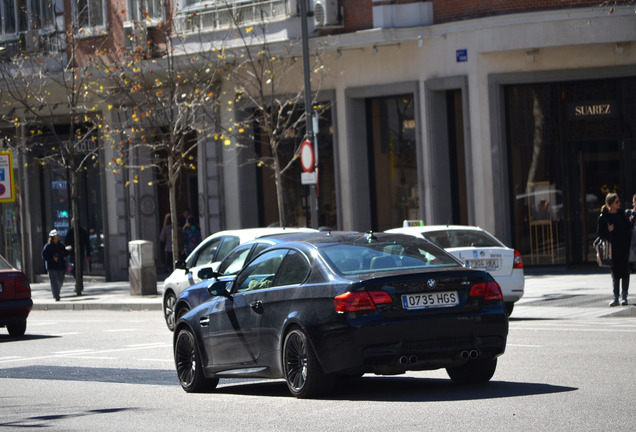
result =
[[203,240],[185,261],[177,262],[176,269],[163,283],[163,315],[170,330],[174,329],[174,306],[179,294],[189,286],[201,282],[199,271],[217,269],[236,246],[269,235],[316,232],[311,228],[246,228],[219,231]]

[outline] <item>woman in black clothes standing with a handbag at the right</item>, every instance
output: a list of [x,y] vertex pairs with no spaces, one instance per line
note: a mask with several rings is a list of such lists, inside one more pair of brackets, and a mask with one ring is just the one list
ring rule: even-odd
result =
[[[596,234],[612,245],[612,285],[614,299],[610,306],[627,305],[629,290],[629,247],[631,244],[631,227],[627,215],[621,210],[621,201],[617,194],[608,193],[605,204],[601,207],[601,215],[596,225]],[[622,282],[621,282],[622,281]],[[620,291],[622,283],[622,292]],[[619,303],[619,294],[621,300]]]

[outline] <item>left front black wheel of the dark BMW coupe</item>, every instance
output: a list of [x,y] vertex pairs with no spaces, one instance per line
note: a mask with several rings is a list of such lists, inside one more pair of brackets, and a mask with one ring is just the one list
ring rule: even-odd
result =
[[174,359],[181,387],[188,393],[201,393],[214,390],[218,378],[206,378],[203,374],[201,355],[189,329],[179,332],[175,341]]

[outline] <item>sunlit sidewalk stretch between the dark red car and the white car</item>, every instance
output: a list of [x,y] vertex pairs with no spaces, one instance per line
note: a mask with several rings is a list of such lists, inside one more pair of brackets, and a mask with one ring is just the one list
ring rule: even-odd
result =
[[131,295],[130,283],[106,282],[103,276],[84,276],[84,291],[75,295],[75,279],[67,275],[60,301],[51,294],[47,275],[38,275],[31,284],[33,310],[162,310],[163,280],[157,281],[157,294]]

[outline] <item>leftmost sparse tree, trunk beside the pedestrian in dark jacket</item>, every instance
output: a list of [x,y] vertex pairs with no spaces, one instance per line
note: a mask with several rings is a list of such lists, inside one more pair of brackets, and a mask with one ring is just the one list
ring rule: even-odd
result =
[[[79,3],[78,3],[79,4]],[[90,52],[94,46],[80,37],[81,26],[72,15],[65,28],[55,16],[63,11],[37,11],[33,22],[50,19],[54,31],[43,36],[27,32],[11,50],[5,47],[0,62],[0,119],[13,128],[5,145],[42,165],[60,167],[70,183],[71,217],[79,221],[79,178],[98,163],[101,116],[91,90]],[[79,11],[81,12],[81,10]],[[7,130],[4,128],[5,131]],[[76,223],[79,227],[79,223]],[[83,290],[80,230],[74,229],[75,291]]]

